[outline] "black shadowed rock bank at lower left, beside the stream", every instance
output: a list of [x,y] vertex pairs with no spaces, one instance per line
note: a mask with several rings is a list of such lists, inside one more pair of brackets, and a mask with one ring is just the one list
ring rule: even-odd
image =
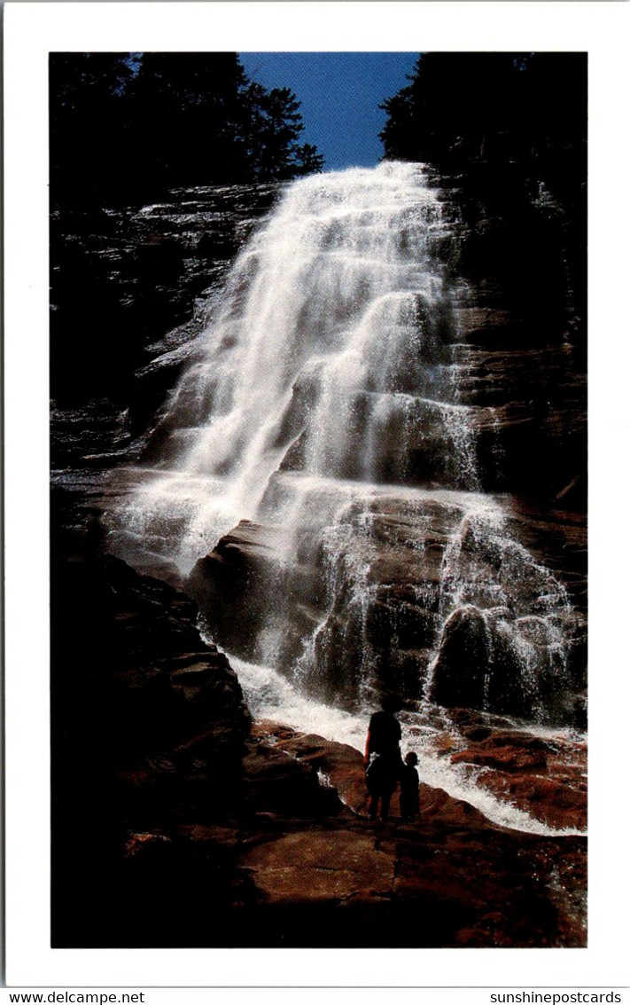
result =
[[[161,945],[158,919],[186,900],[176,874],[190,864],[174,823],[225,821],[240,805],[250,716],[196,616],[190,598],[119,560],[53,563],[53,945]],[[201,687],[174,686],[200,661]],[[154,910],[141,933],[113,923],[134,894]],[[168,941],[181,938],[186,927]]]

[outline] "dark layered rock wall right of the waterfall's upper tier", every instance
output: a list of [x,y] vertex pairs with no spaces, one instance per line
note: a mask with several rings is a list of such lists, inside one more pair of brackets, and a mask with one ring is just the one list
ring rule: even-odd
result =
[[[432,172],[451,219],[452,402],[480,486],[586,507],[586,201],[475,158]],[[576,193],[577,194],[577,193]],[[471,487],[467,485],[465,487]]]

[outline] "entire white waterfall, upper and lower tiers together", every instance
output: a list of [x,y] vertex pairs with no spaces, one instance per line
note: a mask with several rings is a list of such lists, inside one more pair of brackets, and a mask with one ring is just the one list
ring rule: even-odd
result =
[[207,630],[304,700],[356,715],[395,689],[416,736],[435,703],[553,722],[570,688],[566,592],[481,491],[452,232],[417,165],[291,185],[212,305],[158,461],[109,515],[124,557],[185,574],[255,522],[220,546],[241,592],[211,589]]

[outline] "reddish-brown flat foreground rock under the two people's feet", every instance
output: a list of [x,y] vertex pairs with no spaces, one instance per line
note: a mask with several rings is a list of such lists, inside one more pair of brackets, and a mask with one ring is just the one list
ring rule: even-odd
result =
[[[192,930],[181,913],[185,944],[584,945],[584,838],[497,827],[426,785],[419,823],[374,826],[361,812],[360,754],[278,724],[254,727],[243,781],[238,821],[153,829],[127,848],[134,878],[151,867],[179,873],[195,856],[209,895],[213,863],[222,863],[223,915],[215,899]],[[167,931],[161,925],[163,939]]]

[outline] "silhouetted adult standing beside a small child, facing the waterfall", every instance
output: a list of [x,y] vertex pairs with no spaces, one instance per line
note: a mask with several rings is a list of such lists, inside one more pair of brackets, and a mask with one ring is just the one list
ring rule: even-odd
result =
[[367,783],[367,812],[370,820],[376,819],[380,800],[380,817],[389,816],[389,803],[400,778],[402,760],[400,758],[400,723],[394,716],[400,702],[394,697],[381,700],[381,712],[375,712],[370,719],[365,744],[364,764]]

